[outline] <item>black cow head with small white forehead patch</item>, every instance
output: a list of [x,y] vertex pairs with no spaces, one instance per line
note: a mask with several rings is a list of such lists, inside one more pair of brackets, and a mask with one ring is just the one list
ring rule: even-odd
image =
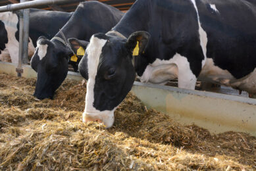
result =
[[72,51],[45,37],[39,37],[36,51],[31,60],[32,68],[38,72],[34,96],[38,99],[53,99],[55,90],[68,73],[68,57]]

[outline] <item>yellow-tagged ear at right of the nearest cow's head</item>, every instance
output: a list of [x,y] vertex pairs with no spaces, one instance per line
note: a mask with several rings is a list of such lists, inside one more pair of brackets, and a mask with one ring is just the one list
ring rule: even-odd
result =
[[144,52],[149,42],[150,34],[148,32],[134,32],[128,37],[126,48],[133,56],[139,56]]

